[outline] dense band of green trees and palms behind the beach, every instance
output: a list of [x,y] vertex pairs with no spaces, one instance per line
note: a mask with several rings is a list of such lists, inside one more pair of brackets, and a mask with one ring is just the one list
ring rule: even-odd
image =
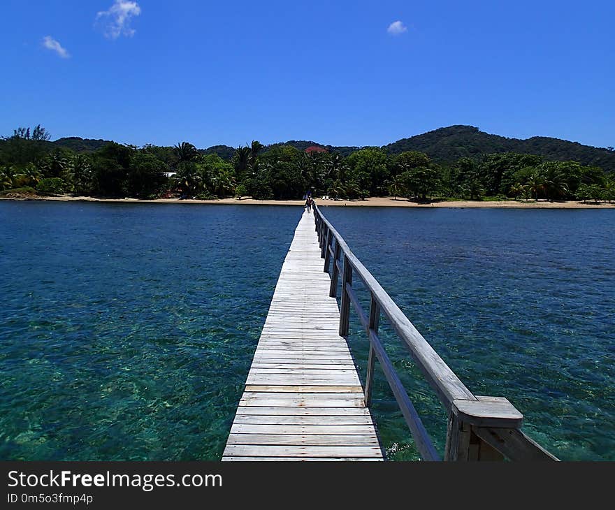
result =
[[188,142],[174,147],[110,142],[78,152],[50,147],[49,138],[37,126],[17,129],[1,140],[1,190],[142,199],[296,199],[310,189],[314,196],[334,199],[615,200],[614,179],[598,166],[515,152],[464,156],[443,163],[414,150],[391,155],[385,147],[363,147],[344,156],[323,147],[264,147],[254,141],[227,152],[229,159],[223,159],[215,151],[199,151]]

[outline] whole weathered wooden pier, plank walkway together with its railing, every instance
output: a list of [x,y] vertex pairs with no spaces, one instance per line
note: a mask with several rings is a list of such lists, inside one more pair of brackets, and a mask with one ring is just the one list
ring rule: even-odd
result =
[[[368,312],[353,275],[370,293]],[[370,346],[364,385],[345,340],[351,305]],[[447,410],[443,456],[379,340],[381,316]],[[315,205],[282,265],[222,460],[384,460],[369,411],[376,361],[423,460],[557,460],[520,430],[506,398],[466,388]]]

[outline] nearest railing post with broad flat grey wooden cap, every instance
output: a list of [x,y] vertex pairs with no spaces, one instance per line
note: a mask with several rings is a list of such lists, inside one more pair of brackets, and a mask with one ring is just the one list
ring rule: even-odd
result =
[[452,402],[447,424],[444,460],[504,460],[504,456],[477,435],[479,428],[498,430],[521,428],[523,414],[503,397]]

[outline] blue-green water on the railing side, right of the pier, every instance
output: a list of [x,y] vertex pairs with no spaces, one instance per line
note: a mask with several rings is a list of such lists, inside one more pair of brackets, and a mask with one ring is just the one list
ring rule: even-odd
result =
[[[526,434],[561,459],[615,460],[615,211],[323,211],[472,393],[508,398]],[[386,323],[381,330],[443,451],[442,407],[396,335]],[[354,332],[365,374],[356,320]],[[389,456],[417,458],[384,377],[378,382]]]

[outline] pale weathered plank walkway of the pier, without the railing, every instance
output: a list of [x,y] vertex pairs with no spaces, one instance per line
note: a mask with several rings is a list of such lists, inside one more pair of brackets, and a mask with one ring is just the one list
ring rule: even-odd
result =
[[222,460],[383,460],[320,253],[304,212]]

